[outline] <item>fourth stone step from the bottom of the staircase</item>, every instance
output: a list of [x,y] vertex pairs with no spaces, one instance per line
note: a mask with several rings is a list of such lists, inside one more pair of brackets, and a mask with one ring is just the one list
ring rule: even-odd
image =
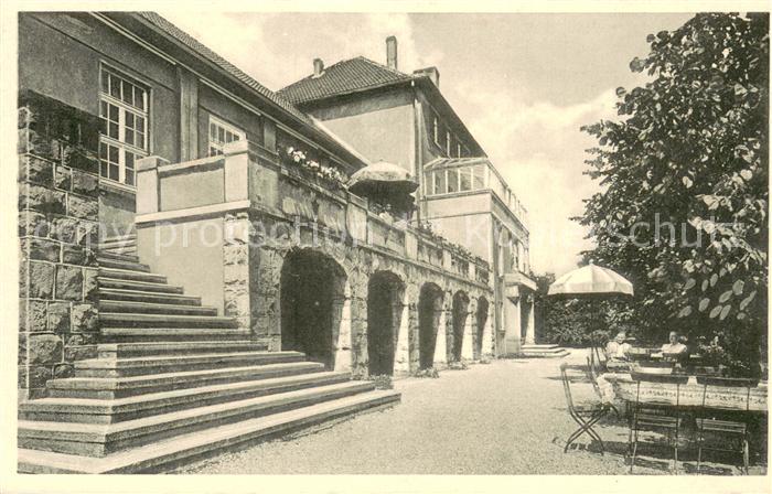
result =
[[49,380],[49,396],[58,398],[118,399],[130,396],[186,389],[244,380],[269,379],[321,373],[315,362],[286,362],[248,367],[213,368],[133,377],[68,377]]

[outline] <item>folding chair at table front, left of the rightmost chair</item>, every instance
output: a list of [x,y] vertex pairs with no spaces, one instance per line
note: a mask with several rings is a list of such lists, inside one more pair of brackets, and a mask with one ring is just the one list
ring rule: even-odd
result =
[[[678,434],[683,426],[680,410],[680,386],[685,385],[689,377],[685,375],[668,374],[646,374],[632,372],[631,377],[636,383],[635,404],[630,421],[630,433],[628,436],[628,455],[630,460],[630,473],[635,465],[637,453],[639,431],[664,432],[667,434],[667,445],[673,448],[673,468],[678,473]],[[669,401],[647,401],[641,402],[641,383],[661,383],[675,385],[675,406]],[[675,436],[675,440],[674,440]],[[631,454],[632,450],[632,454]]]

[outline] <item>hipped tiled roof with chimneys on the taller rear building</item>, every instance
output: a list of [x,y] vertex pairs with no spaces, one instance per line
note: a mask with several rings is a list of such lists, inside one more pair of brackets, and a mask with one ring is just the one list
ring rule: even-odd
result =
[[292,83],[279,94],[293,104],[410,80],[412,76],[380,65],[364,56],[344,60],[325,67],[322,75]]

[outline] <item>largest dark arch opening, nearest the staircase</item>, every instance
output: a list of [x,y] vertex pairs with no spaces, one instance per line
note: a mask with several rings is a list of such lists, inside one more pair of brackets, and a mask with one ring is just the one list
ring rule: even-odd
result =
[[345,270],[326,254],[296,248],[285,256],[279,283],[281,350],[303,352],[309,359],[334,368],[346,319]]

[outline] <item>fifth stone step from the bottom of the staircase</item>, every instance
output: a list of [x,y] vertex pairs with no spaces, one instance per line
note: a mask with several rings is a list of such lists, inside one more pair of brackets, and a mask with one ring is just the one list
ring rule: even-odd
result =
[[247,367],[300,362],[300,352],[240,352],[203,355],[164,355],[132,358],[88,358],[73,363],[75,377],[129,377],[207,368]]

